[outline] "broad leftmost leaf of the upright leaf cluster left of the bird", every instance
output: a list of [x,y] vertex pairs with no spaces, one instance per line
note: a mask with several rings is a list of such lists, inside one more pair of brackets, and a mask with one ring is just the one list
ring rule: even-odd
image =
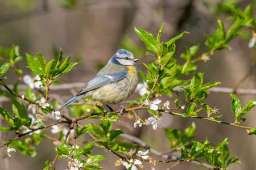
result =
[[30,68],[30,70],[32,70],[35,74],[44,75],[44,70],[38,58],[33,57],[28,53],[26,53],[26,56],[28,68]]

